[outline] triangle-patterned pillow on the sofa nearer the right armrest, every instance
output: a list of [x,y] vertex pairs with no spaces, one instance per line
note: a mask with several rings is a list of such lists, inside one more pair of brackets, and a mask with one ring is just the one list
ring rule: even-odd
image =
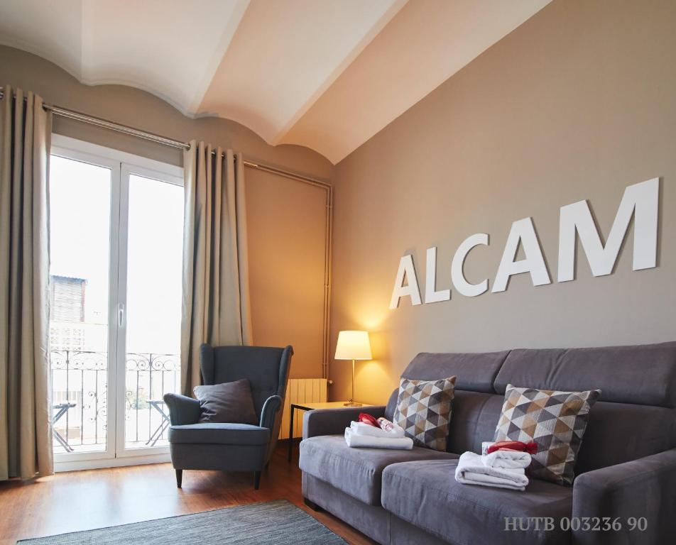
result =
[[529,474],[572,485],[577,451],[587,428],[589,410],[601,390],[557,392],[507,385],[495,441],[535,441]]

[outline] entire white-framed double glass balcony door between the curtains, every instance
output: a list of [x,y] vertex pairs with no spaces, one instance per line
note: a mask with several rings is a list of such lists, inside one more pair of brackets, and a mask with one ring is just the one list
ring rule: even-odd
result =
[[57,468],[166,456],[162,398],[180,387],[182,171],[56,135],[52,154]]

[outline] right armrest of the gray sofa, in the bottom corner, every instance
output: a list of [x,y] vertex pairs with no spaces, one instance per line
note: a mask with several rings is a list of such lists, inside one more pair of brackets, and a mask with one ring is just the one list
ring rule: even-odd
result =
[[[669,543],[676,535],[676,448],[582,473],[573,485],[572,517],[610,517],[621,524],[605,532],[573,530],[575,544]],[[631,529],[631,521],[642,517],[645,529]]]

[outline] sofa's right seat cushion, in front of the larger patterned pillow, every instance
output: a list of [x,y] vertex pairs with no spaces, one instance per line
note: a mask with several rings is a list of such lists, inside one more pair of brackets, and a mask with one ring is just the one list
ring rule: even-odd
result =
[[[572,514],[572,487],[543,480],[531,480],[524,492],[461,485],[456,466],[457,460],[429,460],[386,467],[383,507],[455,545],[569,543],[559,521]],[[545,530],[541,521],[535,529],[531,517],[553,517],[554,528]],[[516,529],[506,530],[506,520],[516,520]]]

